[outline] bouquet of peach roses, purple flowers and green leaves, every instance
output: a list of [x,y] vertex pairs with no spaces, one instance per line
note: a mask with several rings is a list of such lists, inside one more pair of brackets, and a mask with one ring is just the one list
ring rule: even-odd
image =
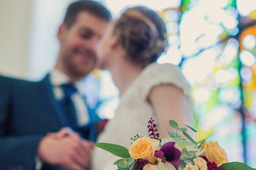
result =
[[169,138],[160,138],[151,118],[149,136],[135,135],[129,149],[108,143],[96,143],[96,147],[120,157],[114,162],[118,170],[253,170],[244,163],[228,163],[227,154],[217,142],[194,140],[187,133],[189,129],[197,134],[191,126],[179,127],[174,120],[170,120],[170,126],[175,131],[168,131]]

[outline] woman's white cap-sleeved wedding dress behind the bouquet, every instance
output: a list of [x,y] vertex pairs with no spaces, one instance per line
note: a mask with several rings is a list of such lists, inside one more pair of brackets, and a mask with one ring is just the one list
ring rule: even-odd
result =
[[[190,85],[178,67],[172,64],[151,64],[124,92],[114,118],[109,121],[98,142],[120,144],[128,149],[130,138],[134,135],[148,136],[148,120],[154,118],[154,110],[147,102],[147,96],[153,86],[160,84],[172,84],[181,88],[191,102]],[[116,170],[117,166],[113,163],[117,159],[111,153],[96,148],[92,156],[92,169]]]

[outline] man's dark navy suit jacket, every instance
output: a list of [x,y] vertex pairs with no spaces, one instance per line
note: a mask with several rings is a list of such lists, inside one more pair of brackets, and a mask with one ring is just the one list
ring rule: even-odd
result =
[[[95,140],[93,114],[89,109],[91,121],[78,131],[89,140]],[[1,170],[35,169],[41,138],[65,126],[69,126],[68,120],[54,98],[48,76],[39,82],[0,76]]]

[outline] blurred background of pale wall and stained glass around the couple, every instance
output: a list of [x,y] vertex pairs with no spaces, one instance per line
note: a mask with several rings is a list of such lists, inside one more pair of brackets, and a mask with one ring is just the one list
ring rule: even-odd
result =
[[[72,0],[0,0],[0,73],[39,80],[53,67],[56,33]],[[193,88],[194,126],[212,135],[230,161],[256,166],[256,0],[102,0],[118,15],[147,5],[167,24],[159,63],[181,67]],[[84,79],[88,103],[111,119],[118,91],[109,72]]]

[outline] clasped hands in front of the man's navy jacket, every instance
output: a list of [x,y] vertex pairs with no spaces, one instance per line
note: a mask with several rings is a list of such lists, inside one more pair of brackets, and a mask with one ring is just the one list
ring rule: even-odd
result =
[[47,135],[42,138],[38,147],[39,158],[51,165],[60,165],[71,169],[87,168],[90,163],[93,143],[81,139],[72,131],[61,135],[61,138],[60,135],[55,137]]

